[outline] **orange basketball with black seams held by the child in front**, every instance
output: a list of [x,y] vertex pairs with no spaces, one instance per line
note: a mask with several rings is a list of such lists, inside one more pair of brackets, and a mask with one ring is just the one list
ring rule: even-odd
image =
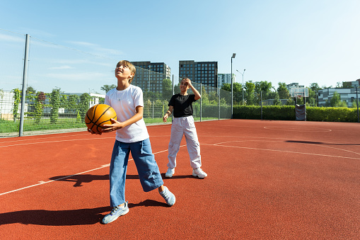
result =
[[85,115],[85,123],[88,129],[93,132],[100,132],[105,128],[103,125],[110,125],[112,122],[110,119],[116,120],[116,112],[114,108],[106,104],[93,105]]

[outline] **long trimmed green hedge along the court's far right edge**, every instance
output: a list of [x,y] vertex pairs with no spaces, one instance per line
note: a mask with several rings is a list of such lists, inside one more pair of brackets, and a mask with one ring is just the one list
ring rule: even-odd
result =
[[[261,119],[260,105],[234,106],[233,118]],[[262,107],[263,120],[296,120],[294,105],[267,105]],[[306,120],[324,122],[357,122],[357,108],[306,107]]]

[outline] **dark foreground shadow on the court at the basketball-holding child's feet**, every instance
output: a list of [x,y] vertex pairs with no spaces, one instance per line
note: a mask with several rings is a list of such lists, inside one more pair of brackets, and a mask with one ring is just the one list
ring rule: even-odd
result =
[[[132,207],[169,207],[164,202],[144,200],[139,203],[129,203]],[[103,217],[111,211],[112,207],[96,207],[79,210],[23,210],[0,214],[0,225],[4,224],[33,224],[44,226],[74,226],[100,223]]]

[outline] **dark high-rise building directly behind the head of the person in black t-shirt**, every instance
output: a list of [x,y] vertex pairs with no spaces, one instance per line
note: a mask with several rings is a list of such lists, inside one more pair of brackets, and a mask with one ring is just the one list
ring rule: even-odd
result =
[[187,77],[194,82],[218,86],[218,62],[194,62],[194,60],[179,61],[180,79]]

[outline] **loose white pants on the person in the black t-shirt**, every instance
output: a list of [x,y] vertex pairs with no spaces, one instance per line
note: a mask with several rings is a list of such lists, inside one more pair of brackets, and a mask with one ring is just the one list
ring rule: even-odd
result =
[[187,152],[189,152],[191,167],[199,168],[202,166],[200,143],[197,139],[194,118],[192,118],[192,116],[173,119],[169,142],[168,168],[175,168],[176,166],[176,154],[178,154],[180,149],[182,135],[185,135]]

